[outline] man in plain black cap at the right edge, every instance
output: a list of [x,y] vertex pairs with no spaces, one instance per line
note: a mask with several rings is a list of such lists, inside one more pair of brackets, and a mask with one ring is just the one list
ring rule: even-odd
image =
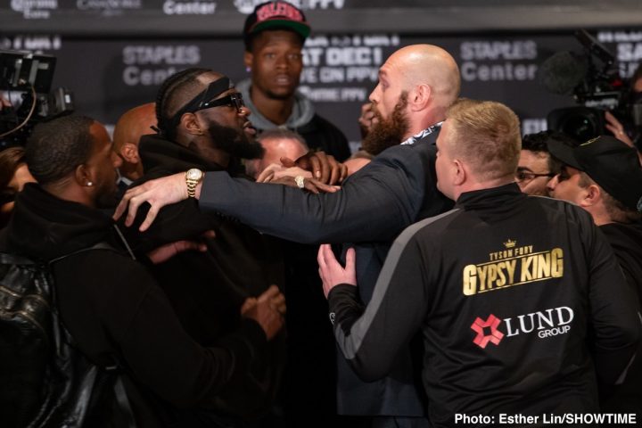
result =
[[[579,147],[549,142],[548,150],[564,162],[548,182],[551,196],[587,210],[606,235],[624,276],[642,303],[642,168],[638,153],[613,136],[598,136]],[[638,350],[638,355],[642,355]],[[642,360],[616,387],[601,385],[603,411],[642,413]]]

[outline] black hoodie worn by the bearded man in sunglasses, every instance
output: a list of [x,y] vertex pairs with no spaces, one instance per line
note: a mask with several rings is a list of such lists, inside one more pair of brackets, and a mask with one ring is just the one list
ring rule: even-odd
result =
[[[144,136],[139,152],[145,173],[133,185],[191,168],[222,169],[161,136]],[[143,214],[144,211],[138,219]],[[202,213],[194,200],[164,207],[143,234],[136,225],[121,228],[126,229],[124,233],[135,252],[161,243],[198,238],[206,230],[215,231],[216,237],[206,240],[207,252],[181,253],[151,268],[185,330],[202,345],[216,343],[238,328],[241,305],[246,298],[259,296],[271,284],[284,284],[281,251],[273,238],[234,219]],[[284,333],[281,333],[255,356],[243,382],[229,385],[221,395],[219,408],[246,419],[268,413],[276,398],[284,363]]]

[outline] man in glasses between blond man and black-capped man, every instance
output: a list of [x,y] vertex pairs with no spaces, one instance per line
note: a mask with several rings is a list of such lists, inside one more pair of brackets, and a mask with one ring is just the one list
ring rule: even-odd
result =
[[548,196],[548,180],[555,177],[560,170],[560,162],[551,158],[548,152],[548,141],[577,145],[571,137],[557,131],[541,131],[523,136],[522,152],[515,173],[515,181],[523,193]]

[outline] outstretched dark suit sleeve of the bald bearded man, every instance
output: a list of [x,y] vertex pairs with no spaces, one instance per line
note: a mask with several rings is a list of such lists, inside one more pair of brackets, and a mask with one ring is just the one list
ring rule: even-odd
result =
[[425,162],[410,146],[383,152],[336,193],[250,183],[208,172],[202,210],[239,218],[259,231],[300,243],[389,241],[415,221],[424,202]]

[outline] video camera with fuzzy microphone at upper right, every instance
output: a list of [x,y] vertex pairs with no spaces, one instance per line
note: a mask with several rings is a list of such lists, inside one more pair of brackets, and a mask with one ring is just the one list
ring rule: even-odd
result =
[[619,77],[613,53],[584,29],[575,33],[584,53],[558,52],[542,63],[540,83],[558,95],[572,95],[581,105],[550,111],[547,127],[580,142],[608,134],[605,111],[626,128],[642,127],[642,104]]

